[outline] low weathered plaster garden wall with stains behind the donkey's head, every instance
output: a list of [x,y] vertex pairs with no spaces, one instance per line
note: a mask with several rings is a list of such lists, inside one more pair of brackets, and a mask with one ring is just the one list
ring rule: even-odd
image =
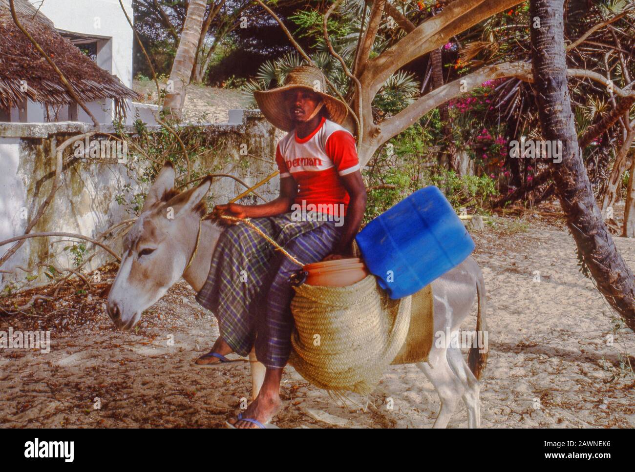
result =
[[[96,129],[89,124],[61,123],[2,123],[0,124],[0,240],[22,235],[34,218],[38,207],[51,192],[55,178],[56,149],[65,140]],[[143,202],[152,174],[154,152],[174,155],[177,169],[185,181],[185,160],[177,140],[165,128],[147,126],[142,131],[133,126],[102,127],[91,140],[108,140],[121,133],[136,144],[128,146],[128,154],[97,158],[77,154],[77,146],[64,151],[64,166],[60,185],[53,200],[30,233],[69,232],[97,238],[120,221],[134,218]],[[253,185],[276,169],[276,143],[281,134],[257,110],[230,110],[229,122],[183,126],[176,130],[189,151],[190,180],[209,173],[231,174],[247,185]],[[116,143],[116,141],[112,141]],[[194,144],[192,144],[194,143]],[[78,157],[79,156],[79,157]],[[179,160],[180,159],[180,160]],[[154,167],[157,167],[156,162]],[[257,192],[264,200],[278,193],[278,178],[274,178]],[[208,206],[224,203],[246,187],[231,178],[216,178],[208,196]],[[254,203],[255,195],[243,199]],[[258,199],[262,202],[261,199]],[[121,251],[120,238],[108,243]],[[13,243],[0,247],[0,257]],[[77,267],[83,261],[88,242],[68,237],[34,237],[27,239],[4,265],[0,266],[0,290],[18,287],[27,277],[32,284],[48,282],[44,268],[51,263],[61,267]],[[112,259],[98,250],[81,272]],[[23,268],[36,268],[31,273]]]

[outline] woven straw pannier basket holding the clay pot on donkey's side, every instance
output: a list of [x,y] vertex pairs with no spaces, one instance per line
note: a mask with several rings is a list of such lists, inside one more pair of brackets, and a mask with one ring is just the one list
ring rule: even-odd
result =
[[408,335],[411,297],[391,300],[375,276],[348,287],[295,287],[290,364],[328,391],[368,395]]

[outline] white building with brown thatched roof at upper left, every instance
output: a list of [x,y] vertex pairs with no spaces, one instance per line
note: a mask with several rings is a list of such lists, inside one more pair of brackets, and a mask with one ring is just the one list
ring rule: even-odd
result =
[[[123,5],[132,19],[132,0],[123,0]],[[134,37],[119,0],[15,0],[15,6],[18,18],[22,18],[21,21],[27,30],[34,27],[36,31],[44,35],[39,36],[39,42],[44,43],[41,46],[45,51],[51,52],[55,48],[57,50],[61,48],[64,49],[64,58],[72,60],[72,65],[59,63],[55,59],[54,62],[65,75],[68,74],[67,78],[74,88],[82,92],[79,95],[82,96],[86,107],[98,122],[111,123],[117,113],[121,112],[121,108],[125,107],[127,108],[126,122],[130,123],[139,116],[144,121],[154,124],[150,112],[152,107],[133,103],[131,100],[138,97],[131,90]],[[23,70],[26,68],[14,67],[17,64],[14,63],[15,60],[11,61],[11,51],[15,52],[17,49],[22,52],[23,49],[32,48],[32,46],[28,43],[20,43],[24,38],[20,37],[20,30],[12,23],[8,8],[8,0],[0,0],[0,36],[3,36],[1,31],[3,27],[4,29],[13,28],[12,31],[17,32],[17,35],[14,34],[12,37],[17,39],[18,44],[7,43],[4,39],[0,42],[0,86],[4,82],[5,89],[12,88],[15,93],[13,96],[5,96],[3,103],[0,91],[0,121],[92,122],[88,114],[70,100],[62,82],[48,63],[43,63],[41,66],[32,65],[32,67],[48,68],[49,74],[46,77],[43,77],[39,70],[30,70],[26,74],[27,77],[22,77],[25,75]],[[42,33],[43,28],[47,28],[48,31]],[[89,56],[100,69],[112,74],[116,79],[91,67],[86,63],[85,58],[77,57],[79,51],[69,48],[63,41],[60,42],[55,30],[81,49],[84,55]],[[49,51],[48,48],[51,50]],[[41,56],[37,55],[34,48],[29,52],[32,63],[38,63],[41,60]],[[7,67],[1,67],[3,62]],[[65,67],[67,67],[66,70]],[[78,67],[84,71],[77,74]],[[57,84],[51,82],[57,82]],[[30,95],[29,93],[20,94],[19,89],[26,86],[32,89]]]

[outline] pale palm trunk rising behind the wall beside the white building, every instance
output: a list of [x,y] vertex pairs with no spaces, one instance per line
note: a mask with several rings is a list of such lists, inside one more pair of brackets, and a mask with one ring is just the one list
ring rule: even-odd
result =
[[163,103],[163,110],[167,117],[181,119],[183,105],[185,103],[185,89],[190,83],[192,67],[196,60],[199,37],[203,28],[206,0],[190,0],[185,16],[185,24],[181,39],[178,43],[177,55],[174,58],[170,81],[173,90],[168,89],[168,94]]

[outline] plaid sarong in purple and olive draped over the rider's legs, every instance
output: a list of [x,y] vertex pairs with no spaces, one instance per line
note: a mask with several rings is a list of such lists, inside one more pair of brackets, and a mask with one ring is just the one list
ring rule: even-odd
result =
[[[293,221],[291,213],[250,221],[304,264],[330,254],[342,229],[333,221]],[[299,268],[249,226],[229,226],[196,301],[214,313],[220,336],[234,352],[246,356],[255,343],[258,361],[279,369],[291,350],[288,279]]]

